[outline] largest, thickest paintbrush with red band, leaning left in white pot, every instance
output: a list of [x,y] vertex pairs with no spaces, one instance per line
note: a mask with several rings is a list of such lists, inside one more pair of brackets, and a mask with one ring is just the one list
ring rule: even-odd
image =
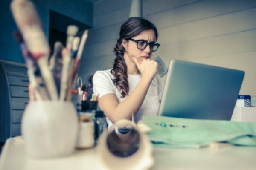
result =
[[49,45],[34,5],[28,0],[13,0],[11,10],[27,48],[40,68],[50,98],[58,100],[54,78],[48,67]]

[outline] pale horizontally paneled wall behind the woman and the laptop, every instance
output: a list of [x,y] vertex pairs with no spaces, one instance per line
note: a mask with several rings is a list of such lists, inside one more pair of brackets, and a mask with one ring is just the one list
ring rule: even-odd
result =
[[[94,4],[94,28],[81,60],[85,80],[110,69],[121,24],[131,0]],[[157,26],[160,56],[240,69],[246,72],[240,94],[256,96],[256,0],[143,0],[143,17]],[[163,77],[164,79],[165,77]]]

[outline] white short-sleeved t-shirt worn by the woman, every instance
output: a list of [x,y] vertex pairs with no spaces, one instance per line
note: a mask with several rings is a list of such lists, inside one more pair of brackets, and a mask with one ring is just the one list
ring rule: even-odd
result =
[[[114,79],[115,77],[111,74],[111,69],[104,70],[104,71],[97,71],[93,75],[93,93],[99,94],[99,98],[106,94],[115,94],[118,101],[122,102],[127,98],[121,98],[121,93],[113,84],[113,81],[111,79]],[[135,87],[139,83],[141,79],[141,75],[128,75],[128,83],[129,83],[129,93],[134,91]],[[160,105],[160,100],[162,98],[162,92],[163,92],[163,83],[159,75],[156,75],[154,79],[151,81],[151,84],[149,86],[147,95],[145,96],[145,99],[143,101],[142,106],[140,107],[137,114],[134,116],[134,120],[137,123],[143,115],[157,115],[158,108]],[[125,108],[124,108],[125,109]],[[104,111],[104,110],[103,110]],[[120,114],[122,114],[120,112]],[[113,123],[106,118],[108,123],[108,128],[110,128]]]

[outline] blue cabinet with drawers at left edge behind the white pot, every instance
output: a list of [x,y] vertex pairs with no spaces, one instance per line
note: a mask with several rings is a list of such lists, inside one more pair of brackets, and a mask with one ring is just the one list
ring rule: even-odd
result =
[[21,118],[29,102],[25,64],[0,61],[0,142],[21,135]]

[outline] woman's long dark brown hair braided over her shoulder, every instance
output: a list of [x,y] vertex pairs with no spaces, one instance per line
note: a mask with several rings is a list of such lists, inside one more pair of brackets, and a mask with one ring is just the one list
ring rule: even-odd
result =
[[154,24],[141,17],[131,17],[121,26],[119,39],[114,48],[116,59],[113,63],[113,69],[111,69],[111,74],[115,77],[112,81],[121,92],[121,98],[124,98],[129,92],[127,66],[124,59],[125,48],[122,46],[122,39],[134,37],[144,30],[150,29],[154,31],[157,39],[158,34]]

